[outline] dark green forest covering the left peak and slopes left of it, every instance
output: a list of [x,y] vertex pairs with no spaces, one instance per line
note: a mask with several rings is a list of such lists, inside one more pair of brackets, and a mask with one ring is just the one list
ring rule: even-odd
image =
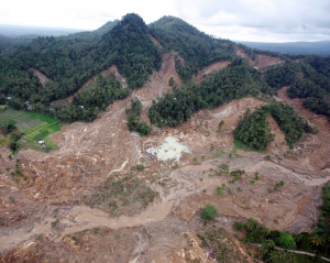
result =
[[[127,14],[110,31],[102,32],[102,37],[95,39],[37,37],[30,45],[1,55],[0,103],[26,109],[25,101],[29,100],[37,112],[53,111],[52,114],[64,120],[68,120],[69,114],[70,121],[81,118],[91,120],[90,116],[95,116],[92,111],[85,114],[77,110],[72,112],[74,108],[55,111],[51,110],[51,103],[74,95],[88,79],[113,64],[125,77],[130,88],[141,87],[152,69],[160,68],[161,53],[150,39],[148,28],[138,14]],[[31,67],[37,68],[52,80],[42,87],[34,73],[29,70]],[[78,96],[77,100],[84,100],[88,103],[86,107],[92,105],[103,109],[113,99],[112,95],[109,99],[108,95],[102,96],[96,90],[105,92],[103,89],[90,87],[84,95],[91,96]],[[117,95],[117,99],[122,96],[124,94]],[[80,118],[76,118],[76,114]]]

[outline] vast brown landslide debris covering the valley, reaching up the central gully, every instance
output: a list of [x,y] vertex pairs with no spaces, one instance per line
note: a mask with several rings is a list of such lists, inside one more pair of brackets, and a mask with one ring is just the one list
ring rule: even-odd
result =
[[[265,103],[248,97],[201,110],[175,129],[154,128],[146,138],[129,132],[127,103],[138,97],[142,119],[147,121],[152,99],[172,90],[169,77],[180,84],[174,53],[164,55],[162,69],[143,88],[109,106],[92,123],[64,125],[53,134],[58,150],[47,154],[21,151],[10,161],[9,150],[1,147],[0,262],[212,262],[196,235],[205,229],[199,213],[208,202],[219,212],[212,224],[228,230],[237,219],[249,218],[272,229],[309,230],[318,219],[321,187],[330,179],[326,123],[310,118],[320,132],[305,135],[288,150],[283,133],[268,118],[275,140],[264,154],[233,151],[232,131],[240,116]],[[278,97],[299,105],[283,90]],[[219,129],[221,120],[224,124]],[[162,162],[146,152],[168,136],[178,139],[190,153],[183,153],[177,162]],[[136,164],[144,168],[134,176],[158,193],[153,204],[130,217],[110,217],[105,207],[82,205],[94,187],[109,178],[118,182]],[[232,178],[219,172],[220,164],[245,174],[230,184]],[[16,183],[11,176],[16,165],[26,180]],[[285,185],[276,188],[280,180]],[[222,184],[223,194],[218,196],[216,189]],[[223,240],[229,238],[223,234]],[[238,240],[231,242],[242,254],[238,262],[253,262]]]

